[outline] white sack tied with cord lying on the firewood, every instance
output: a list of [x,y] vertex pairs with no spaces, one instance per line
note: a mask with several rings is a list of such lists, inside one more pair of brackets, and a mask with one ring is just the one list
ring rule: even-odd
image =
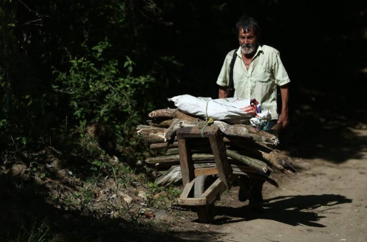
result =
[[168,101],[173,101],[183,113],[203,118],[211,117],[213,120],[226,120],[230,123],[248,122],[259,109],[258,102],[255,101],[257,106],[251,106],[250,99],[241,98],[197,98],[186,94],[168,98]]

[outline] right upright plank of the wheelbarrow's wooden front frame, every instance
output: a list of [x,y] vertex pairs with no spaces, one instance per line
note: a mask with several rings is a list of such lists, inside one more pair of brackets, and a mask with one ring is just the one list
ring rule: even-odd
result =
[[208,135],[210,146],[214,155],[215,165],[218,169],[218,176],[226,185],[227,189],[232,186],[232,166],[228,162],[226,147],[219,129],[212,131]]

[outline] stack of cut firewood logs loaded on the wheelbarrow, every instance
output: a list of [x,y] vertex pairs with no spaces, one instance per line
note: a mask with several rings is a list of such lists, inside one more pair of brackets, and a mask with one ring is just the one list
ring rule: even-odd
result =
[[[270,171],[279,170],[285,174],[296,172],[289,158],[275,150],[278,139],[272,133],[244,124],[230,125],[222,121],[207,123],[200,117],[184,114],[178,109],[155,110],[149,113],[149,117],[152,120],[148,121],[148,125],[137,126],[137,133],[150,143],[150,149],[160,154],[147,158],[145,162],[168,169],[157,178],[159,185],[174,183],[181,178],[176,131],[190,126],[203,128],[205,125],[214,125],[220,129],[234,174],[257,176],[278,186],[268,177]],[[210,144],[206,139],[200,142],[192,149],[195,175],[213,174],[215,162]]]

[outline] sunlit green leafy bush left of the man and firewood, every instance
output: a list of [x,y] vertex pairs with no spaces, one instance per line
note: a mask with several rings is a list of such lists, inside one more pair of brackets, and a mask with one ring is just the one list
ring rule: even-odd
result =
[[135,63],[128,56],[122,69],[117,60],[105,60],[103,52],[110,46],[106,39],[87,57],[71,60],[69,71],[59,73],[56,90],[69,95],[75,120],[102,121],[121,132],[139,121],[144,107],[138,107],[137,95],[154,79],[149,75],[134,77]]

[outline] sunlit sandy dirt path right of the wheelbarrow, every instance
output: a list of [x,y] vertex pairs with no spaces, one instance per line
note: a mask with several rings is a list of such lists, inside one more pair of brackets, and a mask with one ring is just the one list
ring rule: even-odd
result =
[[325,150],[335,160],[295,158],[297,175],[273,174],[280,188],[264,186],[263,214],[237,200],[238,188],[224,193],[217,241],[367,241],[367,131],[353,132],[357,156],[337,162],[345,150]]

